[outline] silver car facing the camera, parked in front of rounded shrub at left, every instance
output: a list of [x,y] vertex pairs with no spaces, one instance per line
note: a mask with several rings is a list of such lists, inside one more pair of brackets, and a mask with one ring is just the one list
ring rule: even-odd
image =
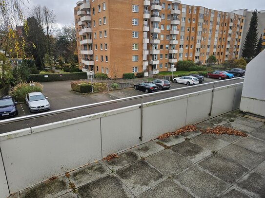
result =
[[50,109],[50,103],[41,92],[32,92],[26,95],[26,104],[30,112],[44,111]]

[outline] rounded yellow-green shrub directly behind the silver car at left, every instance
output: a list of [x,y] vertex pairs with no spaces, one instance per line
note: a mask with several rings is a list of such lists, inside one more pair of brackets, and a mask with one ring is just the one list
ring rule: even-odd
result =
[[23,102],[25,101],[26,94],[30,92],[38,92],[42,91],[43,86],[38,82],[31,82],[34,83],[34,86],[30,86],[29,83],[20,83],[17,86],[11,88],[9,94],[12,95],[16,101]]

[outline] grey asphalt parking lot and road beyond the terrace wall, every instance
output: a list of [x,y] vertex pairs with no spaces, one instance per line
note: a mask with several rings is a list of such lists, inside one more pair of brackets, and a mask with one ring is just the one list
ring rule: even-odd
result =
[[[205,78],[204,83],[214,82],[214,81],[220,81],[220,80],[216,80],[212,78]],[[222,82],[221,80],[220,83],[216,85],[216,87],[234,84],[234,83],[238,83],[242,81],[243,80],[236,79],[232,81]],[[135,96],[135,95],[146,94],[142,91],[134,90],[133,88],[131,88],[131,89],[124,89],[124,90],[114,90],[114,91],[107,91],[107,92],[101,92],[101,93],[81,95],[79,93],[70,91],[71,90],[70,82],[71,81],[42,83],[43,85],[42,92],[45,96],[48,97],[48,100],[51,105],[51,109],[50,109],[51,111],[63,109],[63,108],[70,108],[70,107],[77,107],[81,105],[93,104],[93,103],[98,103],[98,102],[103,102],[103,101],[115,100],[119,98]],[[187,86],[184,84],[171,83],[171,89],[183,88],[183,87],[187,87]],[[213,85],[205,85],[202,87],[194,87],[194,86],[191,86],[191,87],[192,88],[190,89],[177,90],[177,91],[168,92],[164,94],[158,94],[158,95],[151,95],[149,97],[143,98],[143,102],[150,102],[150,101],[159,100],[163,98],[191,93],[191,92],[195,92],[199,90],[207,90],[207,89],[212,88]],[[98,113],[98,112],[107,111],[107,110],[116,109],[116,108],[122,108],[122,107],[131,106],[135,104],[140,104],[140,103],[141,103],[140,99],[132,99],[129,101],[117,102],[113,104],[102,105],[99,107],[85,108],[81,110],[74,110],[71,112],[60,113],[57,115],[49,115],[49,116],[44,116],[44,117],[39,117],[39,118],[34,118],[34,119],[17,121],[17,122],[10,123],[10,124],[2,124],[2,125],[0,124],[0,133],[6,133],[6,132],[28,128],[32,126],[44,125],[44,124],[53,123],[53,122],[57,122],[61,120],[80,117],[80,116],[89,115],[89,114]],[[32,114],[30,113],[28,107],[25,104],[19,104],[18,109],[19,109],[19,115],[17,116],[25,116],[25,115]]]

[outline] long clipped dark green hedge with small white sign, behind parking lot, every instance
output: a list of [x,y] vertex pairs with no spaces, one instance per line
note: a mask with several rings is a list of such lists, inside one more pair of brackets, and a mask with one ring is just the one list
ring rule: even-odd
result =
[[48,73],[48,74],[31,74],[27,81],[51,82],[51,81],[62,81],[62,80],[78,80],[86,78],[87,78],[86,72]]

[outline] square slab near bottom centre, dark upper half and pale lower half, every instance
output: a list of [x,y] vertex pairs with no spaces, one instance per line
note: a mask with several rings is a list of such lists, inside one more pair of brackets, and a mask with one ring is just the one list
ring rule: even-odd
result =
[[119,169],[116,174],[135,196],[167,179],[144,160]]

